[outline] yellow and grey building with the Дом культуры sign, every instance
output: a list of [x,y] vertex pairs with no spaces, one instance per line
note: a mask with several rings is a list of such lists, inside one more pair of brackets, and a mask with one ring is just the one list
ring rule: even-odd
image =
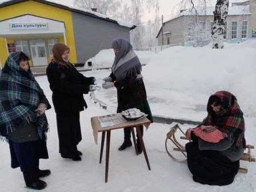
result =
[[70,47],[71,63],[85,63],[114,38],[130,41],[131,23],[43,0],[14,0],[0,4],[0,69],[10,53],[23,51],[33,67],[47,66],[53,45]]

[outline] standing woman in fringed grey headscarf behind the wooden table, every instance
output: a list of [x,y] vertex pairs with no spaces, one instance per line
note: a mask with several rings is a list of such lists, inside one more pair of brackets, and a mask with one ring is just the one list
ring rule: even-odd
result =
[[[112,47],[115,51],[115,60],[109,77],[104,78],[102,87],[109,89],[117,88],[118,108],[117,113],[121,113],[127,109],[137,108],[147,114],[147,118],[153,122],[149,103],[147,102],[147,94],[143,83],[141,71],[141,62],[135,52],[133,46],[123,38],[117,38],[113,41]],[[118,150],[125,150],[131,144],[131,129],[124,129],[125,141]],[[143,134],[143,126],[141,126]],[[137,136],[138,137],[138,136]],[[138,153],[142,153],[141,144],[137,139]]]

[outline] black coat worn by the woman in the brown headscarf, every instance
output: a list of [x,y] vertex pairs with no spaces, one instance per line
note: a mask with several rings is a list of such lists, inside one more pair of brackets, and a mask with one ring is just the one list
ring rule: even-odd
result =
[[83,94],[87,94],[93,77],[84,77],[74,66],[62,66],[51,61],[46,69],[56,113],[77,113],[87,108]]

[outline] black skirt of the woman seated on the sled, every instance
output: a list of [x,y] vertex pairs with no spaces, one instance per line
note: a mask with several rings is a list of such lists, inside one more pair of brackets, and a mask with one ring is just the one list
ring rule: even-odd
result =
[[199,150],[198,142],[186,144],[187,166],[193,180],[207,185],[229,185],[238,173],[239,161],[231,161],[219,151]]

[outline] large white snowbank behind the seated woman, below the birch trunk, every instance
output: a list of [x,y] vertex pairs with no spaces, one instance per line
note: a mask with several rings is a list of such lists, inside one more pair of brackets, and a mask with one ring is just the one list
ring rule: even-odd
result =
[[173,107],[179,110],[204,107],[211,94],[227,90],[237,96],[246,115],[256,115],[255,53],[255,40],[225,43],[223,50],[170,47],[155,55],[143,70],[149,95],[175,101]]

